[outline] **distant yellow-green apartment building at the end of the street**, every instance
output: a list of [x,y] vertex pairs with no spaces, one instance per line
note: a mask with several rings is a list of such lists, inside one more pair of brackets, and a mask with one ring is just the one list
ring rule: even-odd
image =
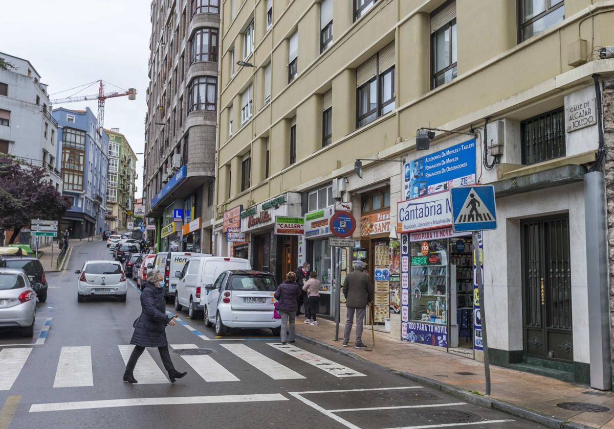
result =
[[109,136],[106,229],[123,231],[134,220],[134,194],[138,178],[136,155],[119,128],[105,129]]

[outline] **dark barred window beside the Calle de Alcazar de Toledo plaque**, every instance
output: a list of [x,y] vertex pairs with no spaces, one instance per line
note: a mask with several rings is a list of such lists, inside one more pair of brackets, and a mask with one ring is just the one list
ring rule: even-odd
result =
[[564,107],[520,123],[524,165],[565,156]]

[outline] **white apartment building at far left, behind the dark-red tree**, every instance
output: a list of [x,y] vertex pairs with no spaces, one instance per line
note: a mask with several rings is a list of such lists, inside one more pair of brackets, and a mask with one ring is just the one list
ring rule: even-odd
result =
[[0,153],[46,167],[61,192],[58,123],[51,115],[47,85],[27,59],[2,52],[0,58],[12,64],[0,70]]

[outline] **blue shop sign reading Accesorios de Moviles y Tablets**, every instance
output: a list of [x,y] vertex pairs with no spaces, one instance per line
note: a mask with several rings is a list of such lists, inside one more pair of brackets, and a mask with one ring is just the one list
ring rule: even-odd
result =
[[475,183],[475,139],[405,164],[405,199]]

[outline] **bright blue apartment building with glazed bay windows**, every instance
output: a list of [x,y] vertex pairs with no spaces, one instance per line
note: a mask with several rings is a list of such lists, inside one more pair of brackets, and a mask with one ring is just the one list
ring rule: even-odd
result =
[[58,159],[64,196],[72,207],[61,219],[60,230],[69,230],[71,238],[93,237],[104,228],[107,210],[107,156],[109,137],[96,128],[96,116],[90,110],[53,109],[58,123]]

